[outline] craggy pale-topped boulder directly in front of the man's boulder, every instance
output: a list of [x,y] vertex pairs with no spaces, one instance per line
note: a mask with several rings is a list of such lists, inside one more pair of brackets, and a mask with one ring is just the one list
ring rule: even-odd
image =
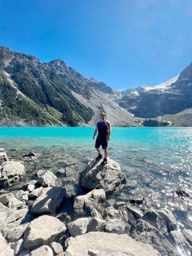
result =
[[77,211],[99,209],[105,204],[104,189],[93,189],[88,194],[75,198],[73,208]]

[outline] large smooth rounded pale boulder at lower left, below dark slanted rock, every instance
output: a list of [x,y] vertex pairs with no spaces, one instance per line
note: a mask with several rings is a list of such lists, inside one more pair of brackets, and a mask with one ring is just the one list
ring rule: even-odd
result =
[[67,230],[66,225],[53,216],[43,215],[30,222],[25,230],[24,247],[33,249],[49,245]]

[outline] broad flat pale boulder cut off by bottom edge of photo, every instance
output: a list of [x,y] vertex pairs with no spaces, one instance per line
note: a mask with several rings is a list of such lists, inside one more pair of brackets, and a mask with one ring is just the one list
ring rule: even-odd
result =
[[127,234],[90,232],[72,239],[65,256],[82,255],[142,255],[160,256],[151,245],[137,242]]

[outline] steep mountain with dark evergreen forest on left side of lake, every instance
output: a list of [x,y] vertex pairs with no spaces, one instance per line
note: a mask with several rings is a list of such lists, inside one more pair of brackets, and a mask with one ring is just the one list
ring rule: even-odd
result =
[[115,99],[105,83],[84,77],[60,59],[41,63],[0,47],[1,126],[95,125],[101,111],[114,126],[138,126]]

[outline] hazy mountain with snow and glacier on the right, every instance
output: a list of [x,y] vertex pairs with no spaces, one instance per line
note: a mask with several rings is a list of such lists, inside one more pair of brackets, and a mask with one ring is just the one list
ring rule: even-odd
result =
[[158,86],[115,91],[118,104],[140,118],[174,115],[192,108],[192,63],[180,75]]

